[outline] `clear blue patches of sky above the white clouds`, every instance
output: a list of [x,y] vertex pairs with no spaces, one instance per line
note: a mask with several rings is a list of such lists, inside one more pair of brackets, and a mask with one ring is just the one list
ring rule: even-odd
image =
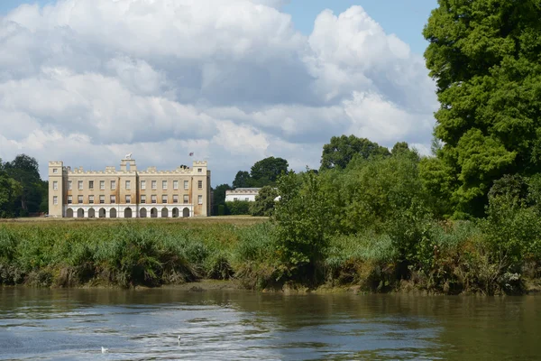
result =
[[[0,14],[26,3],[45,5],[54,3],[54,0],[0,0]],[[419,54],[425,51],[426,41],[421,32],[430,11],[436,8],[437,0],[291,0],[283,10],[291,14],[300,32],[308,34],[314,27],[317,14],[324,9],[340,14],[353,5],[361,5],[385,32],[397,34],[412,51]]]

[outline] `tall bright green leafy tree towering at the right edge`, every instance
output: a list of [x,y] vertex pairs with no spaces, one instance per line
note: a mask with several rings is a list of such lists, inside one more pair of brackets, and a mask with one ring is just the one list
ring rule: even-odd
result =
[[494,180],[541,171],[541,1],[438,4],[424,36],[441,103],[439,170],[457,180],[458,213],[479,216]]

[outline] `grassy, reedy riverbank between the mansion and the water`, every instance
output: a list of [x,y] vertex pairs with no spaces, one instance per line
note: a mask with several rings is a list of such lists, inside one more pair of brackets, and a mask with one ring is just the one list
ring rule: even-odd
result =
[[[289,293],[524,294],[541,290],[535,256],[524,255],[520,273],[497,267],[479,227],[470,222],[429,224],[421,240],[426,247],[420,249],[423,262],[417,264],[401,262],[386,234],[333,236],[325,258],[314,264],[312,277],[304,279],[295,278],[280,264],[276,237],[275,226],[266,218],[2,222],[0,284],[52,288],[179,285],[194,290],[215,284],[225,289]],[[213,283],[219,280],[225,283]]]

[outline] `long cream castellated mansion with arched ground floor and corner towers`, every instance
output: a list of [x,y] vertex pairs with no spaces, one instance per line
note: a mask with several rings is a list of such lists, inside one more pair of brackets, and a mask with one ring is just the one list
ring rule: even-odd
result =
[[138,171],[131,156],[105,171],[49,162],[49,217],[188,218],[210,216],[206,162],[174,171]]

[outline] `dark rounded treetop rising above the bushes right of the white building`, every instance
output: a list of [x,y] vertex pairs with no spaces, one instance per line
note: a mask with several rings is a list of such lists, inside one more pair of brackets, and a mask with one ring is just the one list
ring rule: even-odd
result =
[[323,146],[321,154],[321,170],[342,168],[344,169],[355,155],[368,159],[376,155],[389,155],[389,150],[378,143],[366,138],[358,138],[355,135],[333,136],[331,142]]

